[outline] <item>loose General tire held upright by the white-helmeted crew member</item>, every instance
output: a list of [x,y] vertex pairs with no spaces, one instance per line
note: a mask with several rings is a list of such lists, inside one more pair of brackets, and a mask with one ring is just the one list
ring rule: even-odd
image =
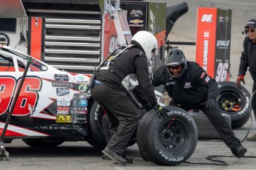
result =
[[175,166],[186,161],[197,146],[197,126],[185,110],[164,106],[168,118],[158,118],[154,109],[147,112],[137,128],[137,144],[143,159],[160,166]]

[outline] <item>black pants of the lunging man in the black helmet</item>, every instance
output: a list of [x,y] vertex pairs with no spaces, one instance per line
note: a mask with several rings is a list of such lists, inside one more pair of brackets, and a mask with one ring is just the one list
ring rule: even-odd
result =
[[217,132],[219,133],[220,137],[222,138],[226,146],[228,146],[232,150],[232,152],[236,146],[241,146],[240,140],[237,139],[237,137],[235,137],[232,127],[229,125],[229,123],[226,122],[226,119],[221,115],[220,109],[207,109],[206,104],[192,106],[192,107],[183,107],[178,105],[178,103],[174,100],[172,100],[169,103],[169,105],[179,106],[185,109],[186,111],[190,109],[200,109],[206,115],[206,117],[211,121],[212,125],[217,130]]

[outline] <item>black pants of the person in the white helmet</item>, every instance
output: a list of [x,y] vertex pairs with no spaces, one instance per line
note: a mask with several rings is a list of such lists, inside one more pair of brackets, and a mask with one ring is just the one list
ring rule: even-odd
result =
[[120,88],[95,84],[91,95],[105,109],[111,124],[110,130],[114,132],[106,147],[122,154],[137,129],[142,116],[140,109],[131,101],[128,93]]

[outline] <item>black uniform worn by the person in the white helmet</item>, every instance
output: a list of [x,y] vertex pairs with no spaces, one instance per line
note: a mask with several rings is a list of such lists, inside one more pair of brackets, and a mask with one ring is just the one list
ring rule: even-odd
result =
[[121,81],[126,75],[136,74],[145,98],[152,106],[157,105],[154,86],[148,73],[148,60],[139,47],[134,46],[122,52],[109,67],[101,67],[96,72],[96,84],[91,89],[93,98],[105,109],[111,123],[112,135],[106,148],[122,154],[134,135],[141,110],[122,89]]

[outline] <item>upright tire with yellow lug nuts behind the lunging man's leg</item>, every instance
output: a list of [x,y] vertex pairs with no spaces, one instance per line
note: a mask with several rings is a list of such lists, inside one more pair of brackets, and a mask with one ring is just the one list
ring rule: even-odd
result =
[[232,81],[223,81],[218,85],[217,103],[221,112],[231,117],[232,129],[243,126],[250,116],[250,93],[244,86],[238,89]]

